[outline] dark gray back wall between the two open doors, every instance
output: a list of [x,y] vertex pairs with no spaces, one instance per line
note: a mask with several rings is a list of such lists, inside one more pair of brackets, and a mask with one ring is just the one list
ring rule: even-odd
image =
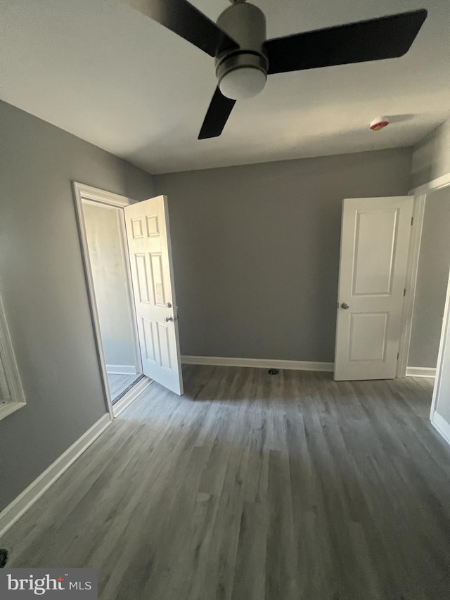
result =
[[410,170],[399,148],[154,177],[181,352],[332,362],[342,199],[405,194]]

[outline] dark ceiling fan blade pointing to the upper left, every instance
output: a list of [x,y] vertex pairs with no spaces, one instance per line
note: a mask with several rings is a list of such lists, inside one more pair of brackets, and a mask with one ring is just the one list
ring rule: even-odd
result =
[[187,0],[127,0],[127,3],[210,56],[224,49],[239,48],[237,42]]

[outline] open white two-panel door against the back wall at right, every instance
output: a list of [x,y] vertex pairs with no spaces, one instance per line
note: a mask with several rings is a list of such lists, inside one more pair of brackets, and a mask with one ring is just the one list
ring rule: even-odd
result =
[[344,200],[335,380],[397,370],[413,198]]

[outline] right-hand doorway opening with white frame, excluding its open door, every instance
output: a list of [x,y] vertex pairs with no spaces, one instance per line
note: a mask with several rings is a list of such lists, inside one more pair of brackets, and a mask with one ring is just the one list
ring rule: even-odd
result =
[[450,444],[450,174],[412,193],[418,219],[399,376],[432,378],[430,421]]

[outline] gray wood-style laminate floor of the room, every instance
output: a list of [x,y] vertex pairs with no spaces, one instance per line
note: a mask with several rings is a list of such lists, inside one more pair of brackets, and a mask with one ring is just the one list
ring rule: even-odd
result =
[[432,381],[186,366],[1,540],[96,567],[102,600],[447,600],[450,448]]

